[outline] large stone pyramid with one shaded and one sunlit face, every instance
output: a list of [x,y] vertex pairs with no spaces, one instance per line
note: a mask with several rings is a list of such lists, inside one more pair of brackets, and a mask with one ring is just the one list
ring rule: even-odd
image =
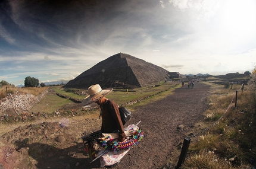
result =
[[134,56],[117,53],[102,60],[64,85],[65,88],[87,89],[99,84],[102,88],[138,88],[168,79],[168,71]]

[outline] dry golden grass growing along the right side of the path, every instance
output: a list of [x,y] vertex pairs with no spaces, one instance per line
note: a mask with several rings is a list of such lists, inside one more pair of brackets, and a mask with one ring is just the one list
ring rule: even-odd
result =
[[238,91],[234,109],[235,98],[231,101],[235,90],[241,86],[225,89],[223,85],[211,85],[214,90],[209,97],[210,108],[205,112],[205,123],[215,125],[207,133],[192,138],[182,168],[251,168],[255,162],[248,161],[256,160],[256,119],[254,107],[248,100],[250,93],[246,88]]

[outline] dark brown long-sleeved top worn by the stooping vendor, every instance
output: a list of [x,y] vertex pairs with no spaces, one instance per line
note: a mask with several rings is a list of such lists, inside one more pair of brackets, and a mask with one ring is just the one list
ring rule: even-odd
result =
[[123,129],[123,122],[118,110],[118,106],[114,101],[108,100],[105,104],[101,105],[102,116],[102,133],[113,133],[119,130],[119,137],[125,138]]

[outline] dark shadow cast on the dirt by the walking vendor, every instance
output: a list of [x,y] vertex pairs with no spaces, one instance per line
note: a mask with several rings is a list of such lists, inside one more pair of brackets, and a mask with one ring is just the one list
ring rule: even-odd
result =
[[36,167],[45,168],[100,168],[99,160],[90,164],[88,153],[84,151],[84,145],[77,143],[65,149],[55,148],[54,145],[16,141],[17,151],[28,154],[36,160]]

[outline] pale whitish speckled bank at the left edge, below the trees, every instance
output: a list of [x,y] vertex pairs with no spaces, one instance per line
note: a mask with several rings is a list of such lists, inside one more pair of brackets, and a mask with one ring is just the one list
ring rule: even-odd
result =
[[13,94],[7,94],[7,97],[0,100],[0,116],[8,114],[9,111],[13,113],[13,110],[16,114],[28,113],[33,104],[40,101],[43,95],[47,92],[48,91],[44,91],[38,96],[20,93],[19,91],[16,91]]

